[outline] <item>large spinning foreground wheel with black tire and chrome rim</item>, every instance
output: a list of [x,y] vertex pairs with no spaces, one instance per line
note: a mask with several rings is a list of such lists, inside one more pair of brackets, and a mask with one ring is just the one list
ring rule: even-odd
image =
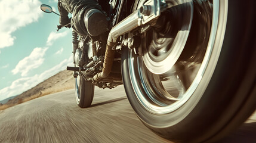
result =
[[128,100],[164,138],[217,141],[255,110],[255,1],[166,3],[141,55],[122,49]]

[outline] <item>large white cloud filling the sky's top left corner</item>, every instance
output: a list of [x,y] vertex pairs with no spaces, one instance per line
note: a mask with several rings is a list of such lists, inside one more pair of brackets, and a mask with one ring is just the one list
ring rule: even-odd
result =
[[0,48],[14,44],[15,36],[11,35],[18,28],[38,21],[42,15],[39,0],[1,0],[0,1]]

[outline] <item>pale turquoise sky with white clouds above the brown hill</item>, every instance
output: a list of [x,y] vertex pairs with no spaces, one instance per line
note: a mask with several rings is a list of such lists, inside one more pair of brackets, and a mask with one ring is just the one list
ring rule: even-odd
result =
[[57,0],[0,0],[0,101],[72,66],[72,29],[56,32]]

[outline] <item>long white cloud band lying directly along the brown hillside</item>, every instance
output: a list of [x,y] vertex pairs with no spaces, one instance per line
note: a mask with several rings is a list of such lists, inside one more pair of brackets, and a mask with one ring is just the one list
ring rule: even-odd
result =
[[59,71],[64,70],[67,65],[72,64],[72,60],[73,58],[72,56],[70,56],[70,58],[63,60],[60,64],[57,64],[56,66],[44,71],[41,74],[35,74],[35,76],[32,77],[21,77],[20,79],[15,80],[13,83],[11,83],[10,86],[7,86],[0,90],[0,101],[8,97],[13,97],[15,95],[21,94],[22,92],[33,88],[34,86],[38,85],[38,83],[43,82],[48,77],[51,77]]

